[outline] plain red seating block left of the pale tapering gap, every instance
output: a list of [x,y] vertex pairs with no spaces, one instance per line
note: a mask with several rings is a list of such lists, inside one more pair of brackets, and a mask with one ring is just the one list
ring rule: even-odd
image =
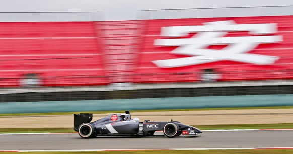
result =
[[0,29],[2,86],[20,85],[25,74],[38,74],[44,86],[106,84],[94,22],[3,22]]

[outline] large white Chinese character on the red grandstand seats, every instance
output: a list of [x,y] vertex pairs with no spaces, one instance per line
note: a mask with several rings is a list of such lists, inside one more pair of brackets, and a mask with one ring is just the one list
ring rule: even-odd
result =
[[[282,36],[239,36],[223,37],[232,31],[248,31],[249,34],[261,35],[277,32],[276,24],[236,24],[234,21],[217,21],[204,23],[202,26],[163,27],[161,36],[179,37],[197,32],[192,38],[158,39],[154,45],[179,46],[171,51],[173,54],[191,57],[152,61],[159,67],[172,68],[203,64],[222,60],[266,65],[274,63],[278,57],[247,53],[261,43],[277,43]],[[207,49],[210,45],[227,45],[219,50]]]

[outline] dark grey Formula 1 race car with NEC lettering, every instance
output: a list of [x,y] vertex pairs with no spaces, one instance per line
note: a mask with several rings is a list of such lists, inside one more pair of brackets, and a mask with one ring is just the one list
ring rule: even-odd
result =
[[198,128],[172,119],[169,122],[140,122],[138,118],[131,119],[129,111],[125,111],[125,114],[111,114],[94,122],[91,122],[92,119],[92,113],[74,114],[74,130],[82,138],[117,135],[154,136],[155,131],[159,130],[163,130],[164,135],[170,138],[181,134],[195,136],[202,133]]

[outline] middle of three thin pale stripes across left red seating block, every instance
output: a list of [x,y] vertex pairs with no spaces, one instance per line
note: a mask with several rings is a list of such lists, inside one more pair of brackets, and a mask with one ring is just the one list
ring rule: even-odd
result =
[[101,55],[99,53],[89,53],[89,54],[7,54],[0,55],[0,57],[31,57],[31,56],[96,56]]

